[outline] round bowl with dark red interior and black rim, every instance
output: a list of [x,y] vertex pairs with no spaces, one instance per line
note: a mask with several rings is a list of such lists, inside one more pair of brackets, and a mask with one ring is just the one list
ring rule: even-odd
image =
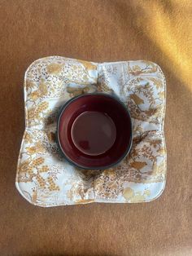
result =
[[59,114],[57,139],[73,166],[94,170],[115,166],[132,145],[129,110],[115,96],[103,93],[72,98]]

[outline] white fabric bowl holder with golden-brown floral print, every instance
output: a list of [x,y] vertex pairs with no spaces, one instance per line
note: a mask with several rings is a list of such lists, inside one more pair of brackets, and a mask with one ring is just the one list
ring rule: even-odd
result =
[[[25,131],[16,188],[34,205],[152,201],[164,190],[165,79],[146,60],[93,63],[59,56],[31,64],[24,77]],[[55,141],[59,109],[76,95],[117,95],[133,121],[133,147],[118,166],[79,170],[59,154]]]

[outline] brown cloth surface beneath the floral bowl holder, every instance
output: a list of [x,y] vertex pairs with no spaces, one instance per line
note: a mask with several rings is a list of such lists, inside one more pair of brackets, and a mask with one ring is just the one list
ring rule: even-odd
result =
[[[191,1],[0,0],[0,252],[5,255],[191,255]],[[136,205],[41,209],[15,189],[24,71],[46,55],[151,60],[168,84],[168,179]]]

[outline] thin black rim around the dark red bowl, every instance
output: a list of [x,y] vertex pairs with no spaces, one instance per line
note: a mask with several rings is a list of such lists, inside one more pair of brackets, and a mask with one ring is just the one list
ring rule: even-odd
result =
[[[76,101],[77,99],[80,99],[80,98],[86,97],[86,96],[91,96],[91,95],[103,95],[103,96],[107,96],[107,97],[109,97],[111,99],[115,99],[126,110],[126,112],[128,113],[128,116],[129,116],[129,120],[130,120],[130,139],[129,139],[129,145],[127,146],[127,149],[124,152],[124,154],[116,162],[114,162],[114,163],[112,163],[110,165],[98,166],[98,167],[94,167],[94,168],[91,168],[91,167],[88,167],[88,166],[81,166],[81,165],[76,164],[76,162],[72,161],[66,155],[66,153],[63,151],[63,148],[61,146],[60,139],[59,139],[59,123],[60,123],[60,119],[62,117],[62,114],[63,114],[65,108],[67,108],[68,105],[71,104],[73,101]],[[124,157],[126,157],[129,154],[129,152],[130,152],[130,150],[132,148],[132,144],[133,144],[133,122],[132,122],[132,119],[131,119],[131,115],[129,113],[129,108],[127,108],[125,106],[124,102],[121,101],[120,98],[117,95],[110,95],[110,94],[103,93],[103,92],[87,93],[85,95],[77,95],[75,97],[72,97],[72,99],[69,99],[65,104],[63,104],[63,106],[61,107],[61,109],[59,111],[59,115],[58,115],[58,118],[57,118],[57,127],[56,127],[56,143],[59,146],[59,151],[62,153],[62,156],[65,158],[66,161],[68,161],[69,164],[71,164],[74,167],[77,167],[77,168],[80,168],[80,169],[84,169],[84,170],[106,170],[106,169],[111,168],[112,166],[116,166],[116,165],[118,165],[120,163],[120,161],[122,161],[124,159]]]

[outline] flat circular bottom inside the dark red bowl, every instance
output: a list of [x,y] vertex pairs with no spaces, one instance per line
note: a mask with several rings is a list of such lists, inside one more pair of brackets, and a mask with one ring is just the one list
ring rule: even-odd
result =
[[107,113],[85,111],[72,124],[72,142],[81,152],[98,156],[116,141],[116,125]]

